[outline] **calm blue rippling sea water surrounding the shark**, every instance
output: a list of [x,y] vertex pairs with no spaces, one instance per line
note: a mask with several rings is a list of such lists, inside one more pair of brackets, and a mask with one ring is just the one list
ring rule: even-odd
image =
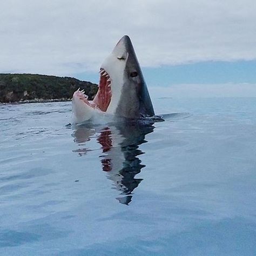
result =
[[0,105],[0,255],[256,255],[256,98],[153,102],[165,122]]

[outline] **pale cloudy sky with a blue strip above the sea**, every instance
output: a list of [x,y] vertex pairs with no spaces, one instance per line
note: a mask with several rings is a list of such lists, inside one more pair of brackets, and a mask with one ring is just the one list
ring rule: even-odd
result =
[[151,87],[243,84],[251,90],[255,13],[254,0],[4,0],[0,72],[97,83],[100,64],[129,35]]

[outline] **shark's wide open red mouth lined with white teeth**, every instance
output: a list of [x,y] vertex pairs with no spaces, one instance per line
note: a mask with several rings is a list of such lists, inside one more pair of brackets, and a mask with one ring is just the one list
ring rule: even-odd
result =
[[106,112],[112,97],[111,78],[109,74],[102,68],[100,68],[99,73],[99,89],[93,100],[88,100],[88,96],[84,93],[84,90],[80,91],[80,88],[74,93],[73,97],[82,100],[83,103],[87,104],[93,109],[99,109]]

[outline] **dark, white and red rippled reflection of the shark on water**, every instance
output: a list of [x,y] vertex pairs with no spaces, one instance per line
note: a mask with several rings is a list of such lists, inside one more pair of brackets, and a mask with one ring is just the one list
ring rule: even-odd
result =
[[[95,139],[100,144],[99,160],[102,171],[113,181],[115,188],[122,196],[116,198],[120,203],[128,205],[132,200],[133,191],[143,179],[136,178],[145,165],[139,159],[144,152],[139,145],[146,143],[146,134],[153,132],[152,122],[114,122],[112,124],[95,126],[84,124],[76,127],[72,136],[78,144]],[[74,150],[83,156],[90,149]]]

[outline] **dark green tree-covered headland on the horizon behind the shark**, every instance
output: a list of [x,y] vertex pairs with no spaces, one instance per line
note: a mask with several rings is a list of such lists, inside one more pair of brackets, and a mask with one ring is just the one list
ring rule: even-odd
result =
[[68,100],[79,87],[84,89],[89,99],[93,99],[98,91],[97,84],[71,77],[0,74],[0,102]]

